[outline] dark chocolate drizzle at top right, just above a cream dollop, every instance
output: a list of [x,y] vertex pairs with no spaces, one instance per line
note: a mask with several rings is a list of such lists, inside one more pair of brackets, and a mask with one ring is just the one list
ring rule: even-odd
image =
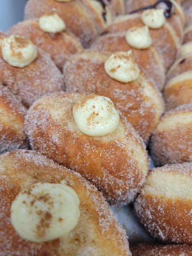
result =
[[137,10],[134,10],[134,11],[130,12],[129,14],[134,14],[136,12],[144,11],[144,10],[147,10],[147,9],[158,9],[158,6],[160,6],[160,4],[164,4],[164,9],[165,9],[164,15],[165,15],[165,17],[170,18],[171,14],[172,14],[172,10],[174,8],[174,4],[172,4],[172,2],[170,0],[158,0],[158,1],[156,1],[156,3],[154,5],[148,5],[148,6],[141,7]]

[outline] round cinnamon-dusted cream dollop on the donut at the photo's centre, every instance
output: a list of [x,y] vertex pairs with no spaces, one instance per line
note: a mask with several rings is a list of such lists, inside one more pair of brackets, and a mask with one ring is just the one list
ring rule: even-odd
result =
[[90,94],[73,106],[73,116],[79,130],[89,136],[104,136],[119,125],[119,113],[108,97]]

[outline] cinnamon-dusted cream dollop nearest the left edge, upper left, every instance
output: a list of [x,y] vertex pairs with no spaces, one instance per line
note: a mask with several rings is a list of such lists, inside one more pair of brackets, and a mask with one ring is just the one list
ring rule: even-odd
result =
[[3,59],[17,68],[29,65],[38,55],[37,49],[30,40],[15,35],[4,38],[1,50]]

